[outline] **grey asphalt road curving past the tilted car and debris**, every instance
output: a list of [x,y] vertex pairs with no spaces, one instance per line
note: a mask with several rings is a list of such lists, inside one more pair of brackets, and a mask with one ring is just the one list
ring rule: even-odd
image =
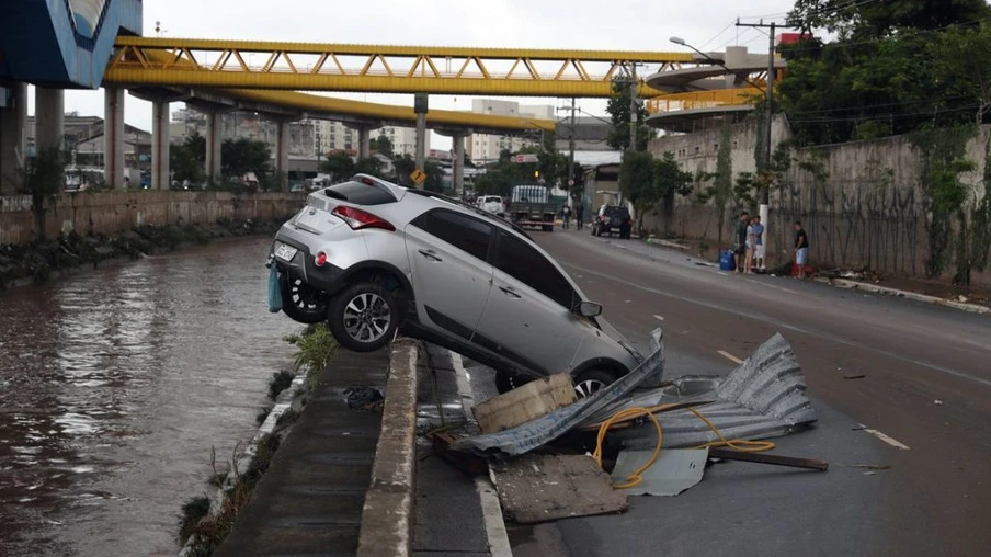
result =
[[820,419],[778,452],[831,468],[720,464],[624,515],[517,530],[515,555],[991,555],[991,318],[588,231],[533,237],[636,344],[663,327],[674,375],[726,373],[782,332]]

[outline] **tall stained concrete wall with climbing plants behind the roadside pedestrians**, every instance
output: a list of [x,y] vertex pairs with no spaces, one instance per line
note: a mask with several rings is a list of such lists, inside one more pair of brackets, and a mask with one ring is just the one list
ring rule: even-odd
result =
[[[756,126],[747,122],[732,126],[729,140],[733,179],[741,172],[753,172]],[[789,137],[783,120],[773,128],[774,144]],[[984,126],[967,147],[967,158],[976,171],[964,174],[972,198],[982,197],[984,148],[991,126]],[[651,151],[675,154],[682,169],[715,172],[720,130],[663,137],[651,143]],[[921,155],[907,137],[821,146],[795,154],[802,161],[821,164],[828,174],[817,180],[808,171],[791,164],[782,185],[772,192],[771,221],[767,223],[770,263],[790,257],[794,243],[791,223],[801,220],[811,243],[813,265],[844,269],[870,268],[887,274],[922,276],[929,255],[927,214],[921,190]],[[702,187],[713,185],[711,182]],[[698,186],[696,186],[698,187]],[[713,201],[693,202],[679,198],[671,215],[662,211],[648,218],[648,226],[659,232],[670,231],[685,238],[703,238],[715,249],[732,243],[732,220],[741,211],[754,213],[756,207],[733,201],[722,208]],[[720,219],[720,217],[722,217]],[[991,284],[991,273],[975,274],[973,282]]]

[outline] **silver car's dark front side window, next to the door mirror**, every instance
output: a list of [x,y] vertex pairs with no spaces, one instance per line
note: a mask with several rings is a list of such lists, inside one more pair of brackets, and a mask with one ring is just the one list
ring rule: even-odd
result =
[[571,284],[537,250],[515,236],[499,230],[495,266],[503,273],[563,306],[568,311],[578,302]]

